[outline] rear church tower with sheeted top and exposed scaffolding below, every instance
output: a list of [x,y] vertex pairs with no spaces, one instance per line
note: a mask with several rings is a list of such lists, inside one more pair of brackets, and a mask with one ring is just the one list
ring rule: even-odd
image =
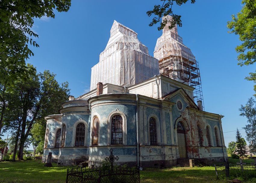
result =
[[154,51],[154,57],[159,60],[160,74],[194,87],[194,101],[204,108],[198,62],[191,50],[183,44],[177,25],[169,29],[171,16],[163,17],[163,20],[165,19],[167,24],[162,36],[157,39]]

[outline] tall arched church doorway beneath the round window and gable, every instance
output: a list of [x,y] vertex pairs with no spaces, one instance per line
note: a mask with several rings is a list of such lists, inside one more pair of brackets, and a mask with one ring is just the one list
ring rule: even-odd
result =
[[177,124],[177,135],[180,158],[187,158],[185,128],[181,122]]

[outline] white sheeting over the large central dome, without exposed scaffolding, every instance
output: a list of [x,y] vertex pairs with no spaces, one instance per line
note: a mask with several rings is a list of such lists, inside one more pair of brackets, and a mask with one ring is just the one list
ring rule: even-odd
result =
[[92,67],[90,89],[98,82],[131,86],[158,74],[158,60],[148,54],[137,33],[114,20],[108,44]]

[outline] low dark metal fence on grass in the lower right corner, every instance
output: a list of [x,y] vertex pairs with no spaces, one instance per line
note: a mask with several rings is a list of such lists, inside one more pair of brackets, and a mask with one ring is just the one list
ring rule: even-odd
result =
[[256,178],[256,163],[223,163],[215,165],[215,172],[218,178],[243,177]]

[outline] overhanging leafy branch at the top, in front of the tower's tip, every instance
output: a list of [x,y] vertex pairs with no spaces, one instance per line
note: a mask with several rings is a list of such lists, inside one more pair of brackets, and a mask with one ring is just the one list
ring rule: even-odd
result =
[[[191,1],[191,3],[195,3],[195,0],[161,0],[163,1],[162,5],[155,5],[153,10],[147,11],[147,15],[151,17],[153,14],[155,17],[153,17],[152,22],[149,24],[149,26],[153,26],[160,22],[160,26],[158,27],[158,30],[162,30],[164,26],[167,23],[170,23],[169,29],[172,29],[175,24],[182,26],[181,23],[181,16],[176,15],[173,13],[172,6],[173,2],[176,2],[177,5],[181,6],[182,4],[185,4],[188,1]],[[161,21],[162,17],[170,15],[172,16],[172,20],[163,20]]]

